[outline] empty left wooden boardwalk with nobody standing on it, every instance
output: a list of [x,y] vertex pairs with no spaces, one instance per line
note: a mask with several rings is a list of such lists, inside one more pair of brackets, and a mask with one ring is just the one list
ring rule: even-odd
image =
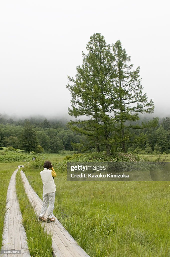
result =
[[15,170],[12,174],[7,190],[7,212],[5,214],[4,220],[3,241],[1,250],[20,250],[21,253],[1,253],[0,256],[4,257],[30,256],[28,245],[26,242],[25,229],[21,223],[22,214],[20,212],[19,203],[15,191],[15,176],[17,171],[18,169]]

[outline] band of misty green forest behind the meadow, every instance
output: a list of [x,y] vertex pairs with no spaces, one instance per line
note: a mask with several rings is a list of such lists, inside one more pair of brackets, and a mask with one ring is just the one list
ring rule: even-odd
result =
[[[127,152],[142,153],[169,153],[170,152],[170,117],[148,118],[141,116],[137,125],[144,128],[126,130],[125,148]],[[111,153],[121,152],[121,140],[118,134],[113,133]],[[76,152],[94,152],[93,138],[72,131],[69,122],[65,120],[50,120],[47,118],[30,118],[13,120],[0,117],[0,147],[8,149],[22,149],[26,152],[59,153],[62,150]],[[104,145],[100,151],[105,151]]]

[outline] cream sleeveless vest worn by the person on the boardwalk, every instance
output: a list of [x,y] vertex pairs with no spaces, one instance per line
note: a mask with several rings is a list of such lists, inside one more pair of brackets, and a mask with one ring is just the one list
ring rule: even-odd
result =
[[54,179],[51,175],[51,170],[44,169],[40,172],[42,184],[43,184],[43,193],[52,193],[56,191],[56,185]]

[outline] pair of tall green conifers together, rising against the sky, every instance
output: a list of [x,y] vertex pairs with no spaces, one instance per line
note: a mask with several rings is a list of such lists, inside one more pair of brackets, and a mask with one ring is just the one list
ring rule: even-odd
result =
[[[87,116],[88,120],[70,121],[69,126],[89,138],[88,148],[95,147],[100,152],[104,146],[108,156],[111,148],[125,152],[125,143],[130,137],[128,129],[149,126],[134,122],[139,120],[140,113],[153,113],[153,100],[147,101],[142,91],[140,67],[133,70],[120,40],[111,49],[104,37],[96,33],[86,49],[88,53],[82,53],[83,64],[77,67],[76,78],[68,76],[71,84],[67,84],[67,88],[72,96],[69,115]],[[147,141],[146,135],[143,137],[142,149]]]

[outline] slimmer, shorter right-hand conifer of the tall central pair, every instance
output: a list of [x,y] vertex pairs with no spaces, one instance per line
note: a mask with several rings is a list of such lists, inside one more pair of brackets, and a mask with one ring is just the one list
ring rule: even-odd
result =
[[153,100],[147,102],[146,93],[143,94],[143,87],[139,77],[140,67],[133,70],[130,64],[130,56],[127,55],[122,43],[118,40],[113,46],[114,53],[114,71],[116,78],[114,80],[114,116],[119,122],[117,129],[120,131],[121,148],[125,152],[125,129],[139,128],[139,125],[125,124],[126,121],[139,120],[139,113],[153,113]]

